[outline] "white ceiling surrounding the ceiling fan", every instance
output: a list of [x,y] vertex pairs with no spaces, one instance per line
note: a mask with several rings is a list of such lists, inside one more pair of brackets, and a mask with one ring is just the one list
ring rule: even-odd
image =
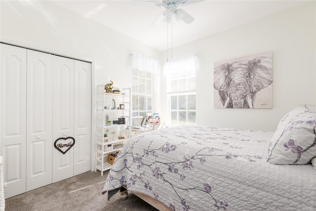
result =
[[[155,6],[155,3],[140,6],[132,4],[132,0],[52,0],[52,2],[159,51],[167,48],[167,24],[163,22],[158,27],[151,26],[164,11],[163,7]],[[173,20],[172,46],[192,42],[307,2],[308,0],[202,0],[179,6],[195,20],[188,25],[183,21]],[[169,25],[169,48],[170,35]]]

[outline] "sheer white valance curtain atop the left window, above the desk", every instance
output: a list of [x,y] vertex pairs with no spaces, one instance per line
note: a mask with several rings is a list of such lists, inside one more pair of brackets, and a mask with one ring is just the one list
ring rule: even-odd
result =
[[132,53],[132,68],[160,75],[159,61],[139,53]]

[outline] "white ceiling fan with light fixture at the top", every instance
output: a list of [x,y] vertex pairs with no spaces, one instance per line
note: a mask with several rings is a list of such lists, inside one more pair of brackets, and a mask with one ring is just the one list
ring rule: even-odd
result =
[[186,24],[190,24],[194,21],[194,18],[189,15],[186,11],[179,6],[184,6],[192,3],[196,3],[201,0],[162,0],[162,2],[157,1],[146,1],[146,0],[133,0],[132,3],[135,5],[149,5],[154,4],[156,6],[161,6],[165,8],[165,11],[161,12],[161,14],[156,18],[156,20],[152,23],[152,26],[159,25],[162,21],[167,23],[171,22],[172,15],[176,18],[177,21],[182,20]]

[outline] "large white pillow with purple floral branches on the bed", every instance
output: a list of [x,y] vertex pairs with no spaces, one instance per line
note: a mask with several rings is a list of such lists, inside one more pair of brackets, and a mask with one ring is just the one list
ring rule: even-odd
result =
[[271,164],[309,164],[316,156],[316,111],[298,107],[279,122],[268,148]]

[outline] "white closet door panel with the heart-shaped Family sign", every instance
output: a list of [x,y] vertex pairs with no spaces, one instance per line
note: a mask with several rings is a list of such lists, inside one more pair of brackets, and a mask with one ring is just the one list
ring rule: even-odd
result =
[[[53,143],[74,137],[74,60],[53,57]],[[70,139],[68,139],[71,142]],[[75,142],[75,146],[76,146]],[[53,147],[53,182],[74,175],[74,147],[65,154]]]

